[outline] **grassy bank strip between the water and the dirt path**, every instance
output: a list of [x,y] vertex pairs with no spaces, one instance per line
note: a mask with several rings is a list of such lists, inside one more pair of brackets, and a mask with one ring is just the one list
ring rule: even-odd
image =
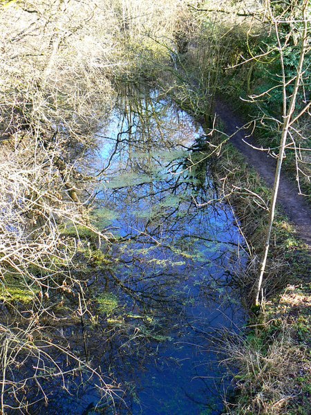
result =
[[[218,158],[216,176],[249,243],[249,267],[241,279],[249,302],[263,249],[267,221],[263,206],[270,190],[230,144]],[[251,311],[245,337],[229,336],[225,341],[225,362],[236,370],[236,396],[227,403],[228,414],[310,413],[310,251],[281,208],[272,241],[261,312]]]

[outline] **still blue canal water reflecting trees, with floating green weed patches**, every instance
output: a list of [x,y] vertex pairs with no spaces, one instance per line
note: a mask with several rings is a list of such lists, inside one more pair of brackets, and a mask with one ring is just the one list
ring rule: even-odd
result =
[[20,400],[32,415],[220,414],[230,393],[220,352],[225,331],[245,322],[234,282],[246,255],[200,147],[204,131],[157,91],[129,91],[104,124],[88,168],[93,220],[109,240],[82,234],[91,255],[71,270],[73,292],[51,289],[47,300],[54,347],[43,339],[40,358],[12,354],[8,379],[20,388],[15,396],[7,382],[6,405]]

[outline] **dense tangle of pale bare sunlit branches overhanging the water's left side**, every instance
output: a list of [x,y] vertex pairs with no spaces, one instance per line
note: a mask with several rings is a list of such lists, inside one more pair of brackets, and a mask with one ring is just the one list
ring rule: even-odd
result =
[[177,8],[175,0],[0,4],[3,414],[47,404],[46,379],[66,389],[70,376],[92,377],[102,396],[113,396],[85,339],[73,352],[62,333],[91,314],[83,271],[93,240],[98,247],[106,237],[91,216],[94,132],[111,111],[115,84],[167,54],[152,39],[173,31]]

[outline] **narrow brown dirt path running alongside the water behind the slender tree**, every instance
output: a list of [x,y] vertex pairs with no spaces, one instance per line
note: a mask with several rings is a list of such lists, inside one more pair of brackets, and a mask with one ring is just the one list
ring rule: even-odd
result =
[[[225,124],[226,133],[232,135],[243,126],[243,122],[236,116],[229,104],[218,100],[216,102],[216,113]],[[243,140],[251,145],[256,145],[254,138],[245,138],[243,131],[238,131],[230,141],[241,151],[249,165],[254,167],[258,174],[263,177],[270,187],[274,184],[274,172],[276,159],[268,156],[265,151],[259,151],[245,144]],[[281,175],[279,203],[294,224],[299,236],[311,246],[311,208],[305,202],[303,196],[298,194],[298,189],[284,174]]]

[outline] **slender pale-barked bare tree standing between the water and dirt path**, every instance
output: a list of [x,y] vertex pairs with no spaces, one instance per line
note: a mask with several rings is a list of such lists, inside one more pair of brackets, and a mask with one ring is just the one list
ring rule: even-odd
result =
[[[281,140],[279,144],[279,156],[276,165],[274,187],[269,207],[269,219],[267,233],[265,236],[265,249],[261,260],[261,270],[258,275],[255,304],[258,306],[261,295],[263,275],[267,264],[267,255],[270,247],[270,236],[274,221],[276,200],[279,190],[281,167],[288,137],[292,137],[295,124],[310,109],[310,102],[299,107],[297,111],[297,97],[299,90],[304,87],[303,77],[305,75],[305,57],[310,53],[310,3],[308,0],[293,1],[291,3],[275,2],[267,0],[265,8],[267,19],[269,19],[276,35],[277,50],[281,64],[281,89],[283,95],[283,113],[281,120],[276,120],[281,129]],[[287,32],[284,33],[284,26]],[[290,46],[290,42],[299,44],[299,62],[294,76],[289,77],[285,68],[284,55]],[[267,92],[269,93],[269,92]],[[296,110],[296,111],[295,111]]]

